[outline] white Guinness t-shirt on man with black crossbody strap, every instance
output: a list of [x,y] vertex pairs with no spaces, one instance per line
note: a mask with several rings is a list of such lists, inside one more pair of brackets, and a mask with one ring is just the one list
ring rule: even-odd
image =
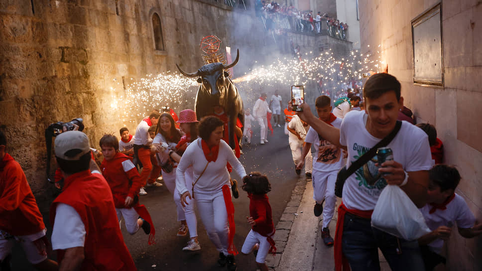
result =
[[[367,116],[364,111],[351,111],[340,127],[340,143],[348,148],[347,168],[381,140],[366,131],[364,116]],[[393,151],[393,160],[402,164],[406,172],[429,170],[433,165],[427,134],[405,121],[387,147]],[[348,209],[365,211],[375,207],[381,190],[386,186],[375,163],[376,155],[345,182],[343,203]]]

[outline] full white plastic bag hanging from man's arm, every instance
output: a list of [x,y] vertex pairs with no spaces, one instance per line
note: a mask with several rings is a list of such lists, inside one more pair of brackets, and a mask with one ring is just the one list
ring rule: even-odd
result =
[[371,226],[409,241],[430,233],[422,212],[398,185],[387,185],[381,191]]

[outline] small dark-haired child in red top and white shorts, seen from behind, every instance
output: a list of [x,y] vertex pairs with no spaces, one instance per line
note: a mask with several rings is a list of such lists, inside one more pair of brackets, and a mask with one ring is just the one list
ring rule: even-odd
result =
[[244,244],[242,244],[241,253],[249,254],[254,250],[256,256],[256,265],[259,270],[267,271],[268,267],[264,263],[269,253],[276,253],[275,243],[273,241],[274,225],[271,218],[271,205],[269,205],[266,193],[271,191],[271,184],[268,177],[261,175],[259,172],[251,172],[242,178],[242,190],[247,192],[249,198],[249,215],[246,217],[247,222],[251,225]]

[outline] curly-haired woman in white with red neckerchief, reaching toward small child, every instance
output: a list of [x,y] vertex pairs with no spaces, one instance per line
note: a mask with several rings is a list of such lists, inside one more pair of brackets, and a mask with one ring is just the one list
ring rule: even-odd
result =
[[[228,264],[228,270],[236,270],[233,245],[235,233],[234,206],[231,201],[230,175],[226,164],[242,177],[244,167],[236,158],[231,147],[223,138],[224,123],[209,116],[199,123],[199,136],[184,152],[178,165],[176,186],[181,194],[182,204],[189,204],[194,198],[208,237],[219,253],[218,264]],[[186,186],[185,171],[193,168],[193,188]],[[229,221],[229,228],[228,228]]]

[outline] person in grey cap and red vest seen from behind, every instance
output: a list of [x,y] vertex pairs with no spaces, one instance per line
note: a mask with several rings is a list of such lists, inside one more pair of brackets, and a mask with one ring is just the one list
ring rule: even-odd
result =
[[58,135],[55,158],[64,176],[62,193],[50,207],[59,270],[136,270],[120,232],[111,189],[91,159],[87,135]]

